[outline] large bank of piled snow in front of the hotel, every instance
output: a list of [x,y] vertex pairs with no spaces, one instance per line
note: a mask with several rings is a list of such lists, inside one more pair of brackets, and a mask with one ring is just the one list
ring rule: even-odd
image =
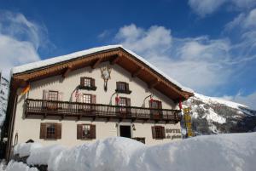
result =
[[255,142],[256,133],[205,135],[154,146],[112,137],[70,149],[30,149],[27,162],[48,164],[49,171],[252,171]]

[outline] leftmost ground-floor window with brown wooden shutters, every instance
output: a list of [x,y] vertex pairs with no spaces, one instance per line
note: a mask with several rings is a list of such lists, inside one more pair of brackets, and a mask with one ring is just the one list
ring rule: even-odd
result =
[[41,123],[40,139],[61,139],[61,123]]

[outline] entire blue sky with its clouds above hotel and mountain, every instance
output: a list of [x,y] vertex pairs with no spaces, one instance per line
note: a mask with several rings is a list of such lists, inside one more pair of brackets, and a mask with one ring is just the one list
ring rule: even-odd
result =
[[121,43],[195,92],[256,103],[256,0],[0,0],[0,67]]

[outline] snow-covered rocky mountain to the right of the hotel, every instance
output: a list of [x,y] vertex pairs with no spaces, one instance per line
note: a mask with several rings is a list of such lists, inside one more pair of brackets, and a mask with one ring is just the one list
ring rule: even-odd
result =
[[191,107],[195,134],[223,134],[256,131],[256,111],[228,100],[195,94],[184,102]]

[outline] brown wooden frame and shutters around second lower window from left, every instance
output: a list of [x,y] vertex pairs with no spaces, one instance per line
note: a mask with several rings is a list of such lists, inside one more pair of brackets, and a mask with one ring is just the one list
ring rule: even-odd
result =
[[[83,127],[90,127],[90,135],[83,136]],[[94,124],[77,124],[77,140],[93,140],[96,139],[96,125]]]

